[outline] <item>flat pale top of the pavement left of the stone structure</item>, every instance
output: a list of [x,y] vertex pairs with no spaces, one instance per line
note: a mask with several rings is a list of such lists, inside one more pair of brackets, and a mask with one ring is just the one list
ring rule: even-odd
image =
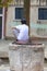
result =
[[4,40],[0,39],[0,51],[8,51],[9,50],[9,44],[13,40]]

